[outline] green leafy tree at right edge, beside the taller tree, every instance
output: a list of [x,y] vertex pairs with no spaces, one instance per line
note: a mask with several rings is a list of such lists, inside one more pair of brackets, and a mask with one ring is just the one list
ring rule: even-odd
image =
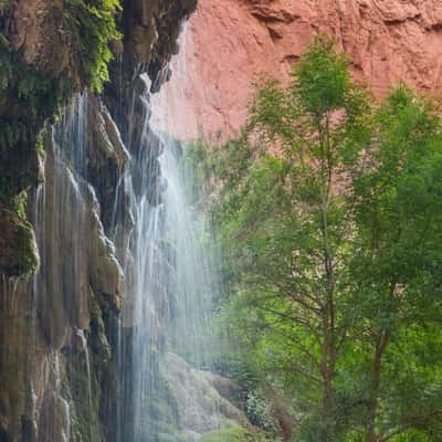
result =
[[[414,397],[418,414],[409,415],[402,410],[393,417],[400,403],[392,403],[392,397],[385,393],[397,393],[391,388],[396,386],[394,372],[382,380],[383,359],[389,365],[400,360],[397,348],[410,355],[401,361],[402,383],[410,359],[418,371],[422,369],[419,362],[424,359],[415,360],[410,351],[415,348],[415,336],[430,346],[438,334],[442,263],[442,138],[438,106],[403,85],[392,91],[377,110],[376,130],[361,161],[366,165],[364,170],[352,177],[356,236],[351,274],[360,286],[354,302],[362,324],[368,325],[365,337],[372,352],[367,440],[378,442],[387,440],[391,431],[404,431],[413,421],[430,425],[430,421],[441,419],[440,408],[425,413],[423,383],[423,390]],[[389,352],[390,346],[396,348]],[[413,378],[425,379],[427,387],[441,393],[441,360],[436,361],[439,368],[434,362],[430,377],[423,370],[408,377],[407,383],[411,387]],[[387,401],[390,409],[379,413]],[[412,409],[409,403],[407,407]]]

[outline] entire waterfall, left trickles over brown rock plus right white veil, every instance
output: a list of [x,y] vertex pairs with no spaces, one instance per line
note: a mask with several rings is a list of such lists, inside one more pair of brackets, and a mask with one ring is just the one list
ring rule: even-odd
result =
[[214,288],[186,144],[173,137],[186,75],[176,78],[154,99],[135,75],[118,127],[103,101],[78,94],[45,136],[46,182],[31,208],[38,441],[190,442],[229,423],[201,371]]

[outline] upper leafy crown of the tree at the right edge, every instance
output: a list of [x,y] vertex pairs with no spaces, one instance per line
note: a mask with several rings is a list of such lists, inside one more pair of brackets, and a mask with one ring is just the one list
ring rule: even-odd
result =
[[431,102],[400,86],[376,117],[369,167],[354,180],[357,228],[372,264],[381,265],[387,278],[406,283],[427,267],[430,250],[432,261],[442,265],[436,245],[442,221],[440,116]]

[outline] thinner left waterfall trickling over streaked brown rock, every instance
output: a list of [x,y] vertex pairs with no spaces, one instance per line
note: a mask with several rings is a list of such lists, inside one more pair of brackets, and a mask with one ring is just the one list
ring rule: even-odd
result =
[[[38,441],[67,442],[74,432],[74,438],[101,440],[97,380],[104,373],[97,370],[104,371],[109,349],[96,312],[103,296],[109,302],[118,293],[123,276],[88,182],[90,149],[95,147],[90,143],[90,99],[77,95],[45,136],[46,181],[31,201],[41,259],[32,281],[39,358],[31,360],[31,372],[40,375],[35,389],[44,410],[34,424]],[[29,414],[34,419],[32,410]]]

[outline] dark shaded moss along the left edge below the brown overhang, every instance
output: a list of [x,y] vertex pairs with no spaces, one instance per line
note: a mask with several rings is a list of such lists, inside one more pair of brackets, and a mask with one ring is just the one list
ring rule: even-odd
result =
[[23,191],[36,185],[39,133],[70,93],[66,77],[39,73],[0,32],[0,202],[20,215]]

